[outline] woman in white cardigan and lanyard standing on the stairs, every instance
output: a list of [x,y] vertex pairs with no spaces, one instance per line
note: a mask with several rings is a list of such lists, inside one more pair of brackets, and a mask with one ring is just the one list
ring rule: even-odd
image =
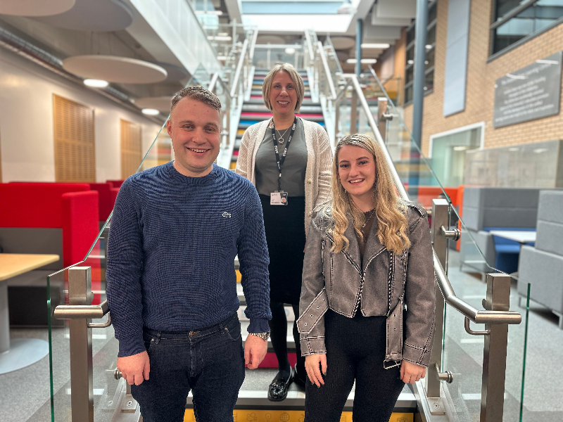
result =
[[250,180],[260,195],[270,252],[270,333],[279,364],[268,389],[272,401],[286,398],[291,381],[305,385],[305,359],[295,324],[295,369],[287,357],[284,303],[293,307],[297,319],[312,211],[329,199],[331,191],[332,151],[327,132],[295,114],[304,91],[303,79],[289,63],[276,65],[268,73],[262,96],[273,118],[246,129],[236,162],[236,172]]

